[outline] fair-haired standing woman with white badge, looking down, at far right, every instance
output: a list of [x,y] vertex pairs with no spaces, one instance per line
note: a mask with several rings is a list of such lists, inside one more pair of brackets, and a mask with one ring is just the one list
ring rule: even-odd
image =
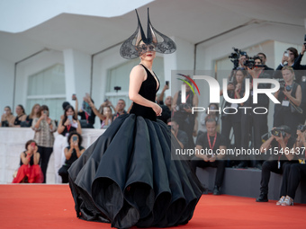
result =
[[302,101],[302,89],[294,82],[293,67],[284,66],[282,74],[284,84],[275,92],[275,98],[281,103],[275,104],[274,126],[286,125],[292,129],[291,134],[295,135],[296,128],[302,123],[302,114],[298,111]]

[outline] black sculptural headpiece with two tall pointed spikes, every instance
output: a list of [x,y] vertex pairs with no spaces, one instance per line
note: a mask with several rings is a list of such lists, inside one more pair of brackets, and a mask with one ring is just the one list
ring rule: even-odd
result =
[[139,57],[138,45],[141,40],[147,45],[153,44],[157,52],[165,54],[170,54],[175,52],[176,50],[175,42],[170,38],[168,38],[166,35],[154,29],[154,27],[152,26],[149,20],[149,15],[148,15],[147,37],[145,36],[145,33],[142,29],[139,20],[139,15],[137,13],[137,10],[135,11],[138,18],[137,30],[130,36],[128,40],[125,40],[121,45],[120,48],[121,57],[127,59],[133,59]]

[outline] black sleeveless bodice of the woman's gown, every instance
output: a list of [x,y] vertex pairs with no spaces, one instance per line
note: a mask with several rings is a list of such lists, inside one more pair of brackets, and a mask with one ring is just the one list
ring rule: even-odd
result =
[[[143,66],[143,65],[141,65]],[[159,89],[159,80],[158,80],[158,88],[157,88],[157,81],[155,77],[148,71],[147,67],[143,66],[147,72],[147,79],[142,82],[139,94],[149,101],[155,102],[156,94]],[[133,102],[133,106],[130,109],[130,114],[135,114],[136,116],[142,116],[144,119],[150,119],[153,121],[157,120],[156,113],[150,107],[145,107],[139,105],[136,102]]]

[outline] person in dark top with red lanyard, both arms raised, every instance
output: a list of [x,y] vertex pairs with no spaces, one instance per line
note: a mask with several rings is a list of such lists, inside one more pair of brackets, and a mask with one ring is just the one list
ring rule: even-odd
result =
[[[81,117],[80,124],[82,128],[94,128],[95,114],[94,114],[94,111],[90,108],[89,104],[87,103],[85,99],[86,96],[83,98],[82,108],[78,110],[77,115]],[[91,99],[91,101],[93,100]],[[76,99],[76,102],[77,102],[77,99]]]

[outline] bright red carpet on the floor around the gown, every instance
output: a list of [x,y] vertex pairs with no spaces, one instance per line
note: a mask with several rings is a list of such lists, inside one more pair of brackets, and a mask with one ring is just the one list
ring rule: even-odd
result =
[[[257,203],[254,198],[203,195],[187,225],[173,228],[305,228],[306,205]],[[111,228],[76,218],[67,185],[0,185],[0,228]],[[136,228],[136,227],[135,227]]]

